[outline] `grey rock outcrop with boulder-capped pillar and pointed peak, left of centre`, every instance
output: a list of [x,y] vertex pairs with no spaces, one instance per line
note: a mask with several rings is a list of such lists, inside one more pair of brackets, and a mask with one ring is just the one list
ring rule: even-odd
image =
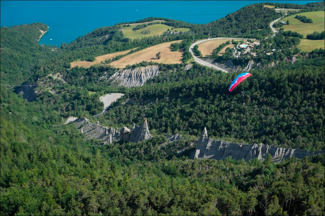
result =
[[145,139],[151,139],[147,120],[144,120],[140,126],[133,125],[132,129],[126,126],[119,131],[117,128],[108,129],[107,127],[89,122],[86,118],[80,118],[73,122],[75,126],[80,129],[81,133],[85,134],[87,138],[95,138],[100,140],[103,144],[110,144],[114,140],[123,140],[124,142],[140,142]]

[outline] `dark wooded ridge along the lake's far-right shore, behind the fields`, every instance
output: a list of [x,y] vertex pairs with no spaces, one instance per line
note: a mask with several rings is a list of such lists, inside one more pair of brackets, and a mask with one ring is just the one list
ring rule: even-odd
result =
[[[324,10],[324,2],[312,2],[306,5],[281,4],[281,3],[258,3],[244,6],[234,13],[228,14],[225,18],[212,21],[207,24],[191,24],[180,20],[172,20],[162,17],[149,17],[136,22],[123,22],[116,25],[127,23],[150,22],[154,20],[164,20],[162,24],[173,26],[175,28],[190,28],[198,38],[206,38],[210,33],[211,37],[245,37],[255,38],[258,35],[263,37],[271,35],[269,23],[284,16],[277,13],[273,8],[264,7],[264,5],[277,6],[277,8],[301,9],[301,12]],[[273,33],[272,33],[273,34]]]

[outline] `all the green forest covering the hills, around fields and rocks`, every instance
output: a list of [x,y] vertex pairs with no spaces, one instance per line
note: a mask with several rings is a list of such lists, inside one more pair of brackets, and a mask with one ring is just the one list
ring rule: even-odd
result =
[[[253,34],[257,29],[249,22],[267,34],[269,20],[280,14],[264,4],[205,25],[166,18],[136,23],[161,19],[175,28],[191,28],[196,39],[208,32],[211,37]],[[324,2],[275,5],[324,8]],[[198,64],[185,71],[186,64],[138,63],[130,67],[155,64],[160,74],[130,89],[99,81],[116,71],[109,65],[70,68],[76,59],[167,41],[183,40],[171,49],[188,51],[193,37],[188,32],[130,40],[119,30],[123,24],[96,29],[60,47],[38,44],[45,24],[1,28],[0,215],[325,215],[324,154],[280,163],[270,155],[263,162],[188,158],[204,127],[212,138],[226,141],[324,150],[323,49],[300,53],[295,64],[281,61],[250,71],[252,76],[232,92],[229,83],[237,74]],[[261,41],[284,50],[265,61],[299,53],[289,48],[300,37],[288,31]],[[60,73],[64,82],[46,76],[52,73]],[[15,93],[26,82],[37,85],[33,102]],[[125,95],[107,114],[91,117],[102,111],[99,96],[110,92]],[[135,101],[125,103],[130,98]],[[100,145],[73,124],[62,125],[69,116],[113,127],[131,127],[147,118],[153,138]],[[166,135],[175,133],[183,138],[166,143]],[[176,155],[180,147],[187,148],[183,156]]]

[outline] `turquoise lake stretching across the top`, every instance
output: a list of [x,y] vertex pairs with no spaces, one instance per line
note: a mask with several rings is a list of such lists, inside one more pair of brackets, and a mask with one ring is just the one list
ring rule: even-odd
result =
[[60,46],[96,28],[147,17],[205,24],[255,3],[318,1],[0,1],[0,26],[45,23],[49,31],[40,44]]

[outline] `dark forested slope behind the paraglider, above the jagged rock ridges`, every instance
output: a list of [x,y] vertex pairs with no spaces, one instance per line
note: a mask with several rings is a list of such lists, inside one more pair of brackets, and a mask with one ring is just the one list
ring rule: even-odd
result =
[[[162,133],[199,135],[204,127],[217,138],[274,144],[303,150],[324,149],[324,50],[294,65],[254,70],[233,92],[236,74],[200,65],[165,73],[134,88],[99,118],[106,125],[141,123]],[[245,90],[246,96],[240,92]],[[143,100],[123,104],[127,97]],[[147,107],[144,109],[144,107]],[[133,117],[132,117],[133,116]]]

